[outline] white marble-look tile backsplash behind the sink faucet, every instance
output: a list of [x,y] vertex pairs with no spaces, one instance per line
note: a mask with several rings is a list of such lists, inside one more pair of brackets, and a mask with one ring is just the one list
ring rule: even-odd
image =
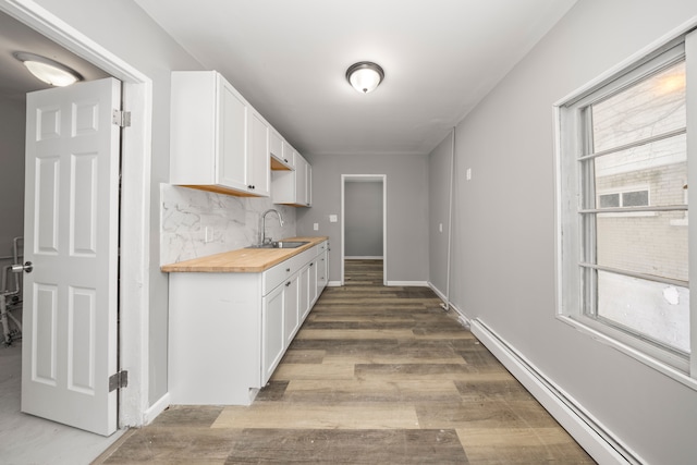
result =
[[[246,247],[258,241],[261,213],[276,208],[266,220],[267,237],[296,235],[295,208],[270,198],[235,197],[160,184],[160,265]],[[208,229],[208,241],[206,241]]]

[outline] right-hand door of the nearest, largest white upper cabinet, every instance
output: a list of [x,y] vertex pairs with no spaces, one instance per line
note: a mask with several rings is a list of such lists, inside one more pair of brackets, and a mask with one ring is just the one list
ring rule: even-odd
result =
[[252,194],[268,197],[271,184],[269,125],[255,111],[249,114],[249,146],[247,149],[250,171],[247,188]]

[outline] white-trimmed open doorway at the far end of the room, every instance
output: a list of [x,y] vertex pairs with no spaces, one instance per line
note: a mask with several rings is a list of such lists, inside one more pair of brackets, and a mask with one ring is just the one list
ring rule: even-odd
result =
[[354,276],[386,285],[387,175],[342,174],[341,180],[341,285]]

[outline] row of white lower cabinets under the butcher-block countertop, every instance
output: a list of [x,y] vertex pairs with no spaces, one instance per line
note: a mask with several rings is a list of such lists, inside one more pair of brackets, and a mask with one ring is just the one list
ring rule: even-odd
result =
[[261,273],[170,273],[172,404],[252,404],[323,289],[327,244]]

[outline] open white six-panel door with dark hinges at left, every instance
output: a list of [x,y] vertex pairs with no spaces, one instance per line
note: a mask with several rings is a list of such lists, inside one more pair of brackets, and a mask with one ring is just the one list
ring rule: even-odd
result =
[[105,436],[117,429],[119,108],[113,78],[27,94],[22,412]]

